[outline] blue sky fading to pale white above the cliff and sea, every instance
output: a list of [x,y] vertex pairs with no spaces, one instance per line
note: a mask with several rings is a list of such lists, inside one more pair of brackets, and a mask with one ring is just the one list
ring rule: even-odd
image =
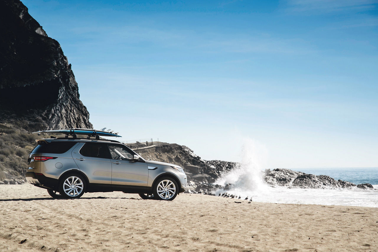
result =
[[[378,4],[25,0],[95,128],[266,168],[378,167]],[[247,141],[250,142],[250,141]]]

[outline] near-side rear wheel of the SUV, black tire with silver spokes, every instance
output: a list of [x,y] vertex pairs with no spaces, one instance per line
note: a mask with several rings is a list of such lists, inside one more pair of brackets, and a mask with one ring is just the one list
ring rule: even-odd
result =
[[60,180],[59,192],[63,198],[80,198],[86,189],[85,179],[77,173],[64,175]]

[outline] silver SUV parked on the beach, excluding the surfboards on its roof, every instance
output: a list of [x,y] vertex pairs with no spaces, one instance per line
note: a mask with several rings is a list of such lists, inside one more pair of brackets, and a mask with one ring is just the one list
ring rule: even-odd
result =
[[146,161],[114,140],[38,139],[28,158],[26,180],[53,198],[79,198],[85,192],[139,193],[143,199],[173,200],[186,189],[184,170]]

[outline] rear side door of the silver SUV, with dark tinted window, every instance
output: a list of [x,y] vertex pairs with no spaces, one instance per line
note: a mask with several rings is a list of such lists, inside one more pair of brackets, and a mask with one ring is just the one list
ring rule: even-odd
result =
[[80,143],[71,155],[90,183],[112,184],[112,162],[107,143]]

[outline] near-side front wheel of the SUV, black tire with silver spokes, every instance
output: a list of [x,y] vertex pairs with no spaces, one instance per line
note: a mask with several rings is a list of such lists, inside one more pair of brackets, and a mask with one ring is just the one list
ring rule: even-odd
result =
[[174,200],[178,194],[178,190],[179,188],[175,179],[161,177],[156,180],[153,186],[153,195],[155,199],[159,200]]

